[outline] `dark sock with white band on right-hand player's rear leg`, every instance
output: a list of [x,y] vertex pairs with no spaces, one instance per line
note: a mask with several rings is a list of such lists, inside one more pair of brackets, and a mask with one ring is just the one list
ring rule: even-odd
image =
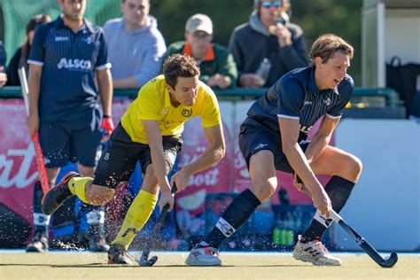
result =
[[218,248],[227,237],[230,237],[246,220],[248,220],[255,211],[255,208],[260,205],[260,200],[255,197],[252,191],[242,191],[239,196],[230,203],[212,231],[204,238],[204,241],[208,245]]

